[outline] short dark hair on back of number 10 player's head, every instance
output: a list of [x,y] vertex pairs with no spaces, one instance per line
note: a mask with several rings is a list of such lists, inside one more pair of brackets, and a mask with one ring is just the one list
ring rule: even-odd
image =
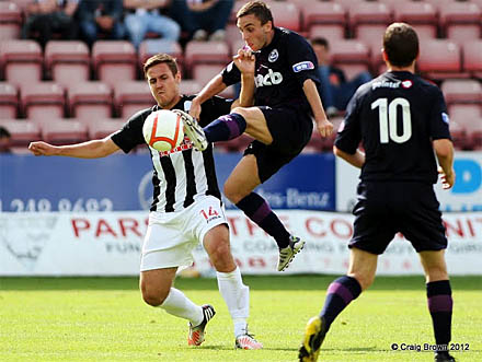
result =
[[393,23],[385,32],[383,49],[390,65],[408,67],[418,56],[418,36],[409,24]]

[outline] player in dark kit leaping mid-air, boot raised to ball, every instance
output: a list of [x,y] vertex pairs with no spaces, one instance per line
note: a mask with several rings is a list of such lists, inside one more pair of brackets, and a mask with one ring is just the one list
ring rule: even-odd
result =
[[243,132],[255,139],[227,179],[225,195],[275,238],[277,269],[282,271],[305,242],[290,235],[266,200],[253,190],[301,152],[311,138],[313,118],[323,137],[333,126],[317,91],[318,61],[311,45],[294,32],[275,27],[264,2],[248,2],[237,17],[246,47],[193,100],[191,116],[198,118],[206,100],[240,81],[241,107],[204,129],[185,115],[185,131],[199,150]]

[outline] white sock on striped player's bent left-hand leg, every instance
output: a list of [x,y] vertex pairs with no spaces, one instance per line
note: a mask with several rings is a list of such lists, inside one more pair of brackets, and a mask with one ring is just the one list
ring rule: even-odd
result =
[[204,319],[203,307],[194,304],[183,292],[175,288],[171,288],[168,297],[160,307],[176,317],[188,319],[193,326],[200,325]]

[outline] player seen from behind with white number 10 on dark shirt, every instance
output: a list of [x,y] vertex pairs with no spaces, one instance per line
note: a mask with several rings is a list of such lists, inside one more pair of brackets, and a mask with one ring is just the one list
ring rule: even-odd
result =
[[[307,325],[300,361],[315,361],[336,316],[375,279],[378,255],[398,232],[418,253],[426,278],[435,361],[455,361],[447,346],[452,299],[445,262],[447,238],[433,184],[454,186],[454,148],[440,90],[415,75],[418,37],[393,23],[383,35],[388,71],[362,85],[351,100],[334,153],[362,168],[348,272],[333,281],[323,310]],[[365,154],[357,150],[363,141]]]

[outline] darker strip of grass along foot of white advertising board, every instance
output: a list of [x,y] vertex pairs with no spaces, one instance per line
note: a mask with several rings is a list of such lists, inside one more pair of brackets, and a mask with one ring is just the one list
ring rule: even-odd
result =
[[[244,276],[251,290],[325,290],[340,276]],[[8,290],[138,290],[139,278],[0,278],[0,291]],[[175,285],[182,290],[217,290],[215,278],[177,278]],[[480,276],[451,277],[454,290],[482,290]],[[369,290],[420,290],[425,291],[425,279],[412,277],[377,277]]]

